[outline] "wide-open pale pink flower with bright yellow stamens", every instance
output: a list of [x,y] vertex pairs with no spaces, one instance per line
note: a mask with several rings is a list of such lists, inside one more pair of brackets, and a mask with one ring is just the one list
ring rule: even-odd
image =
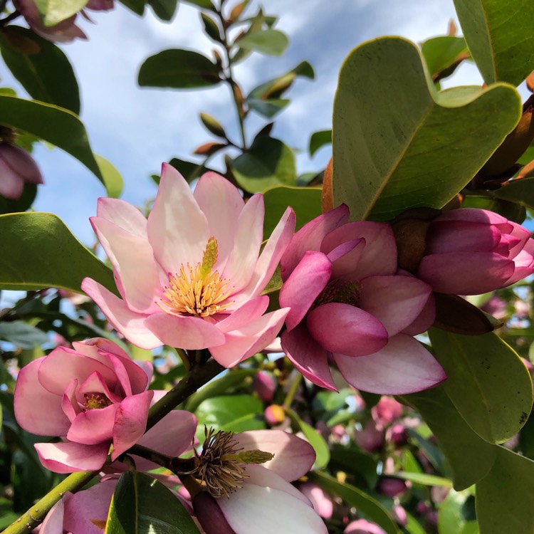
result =
[[260,254],[261,194],[245,204],[214,172],[192,193],[179,172],[163,164],[148,220],[118,199],[99,199],[97,214],[91,223],[122,299],[90,278],[82,288],[134,345],[208,348],[231,367],[274,340],[289,310],[265,313],[269,299],[261,292],[293,235],[292,209]]

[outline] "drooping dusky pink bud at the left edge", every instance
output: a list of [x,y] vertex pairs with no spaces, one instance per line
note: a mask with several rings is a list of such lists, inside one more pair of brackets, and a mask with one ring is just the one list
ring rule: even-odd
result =
[[0,195],[6,199],[19,199],[25,182],[43,183],[35,159],[21,147],[0,143]]

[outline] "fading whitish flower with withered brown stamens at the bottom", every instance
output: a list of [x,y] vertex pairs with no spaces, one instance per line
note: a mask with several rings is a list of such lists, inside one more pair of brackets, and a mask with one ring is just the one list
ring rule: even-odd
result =
[[313,461],[312,446],[283,431],[209,435],[193,473],[204,485],[188,488],[197,520],[206,534],[326,534],[308,498],[290,483]]

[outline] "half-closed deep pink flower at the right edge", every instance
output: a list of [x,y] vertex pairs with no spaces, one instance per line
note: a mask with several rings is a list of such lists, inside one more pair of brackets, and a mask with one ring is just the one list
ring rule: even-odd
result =
[[530,232],[485,209],[446,211],[431,222],[417,276],[439,293],[478,295],[534,273]]

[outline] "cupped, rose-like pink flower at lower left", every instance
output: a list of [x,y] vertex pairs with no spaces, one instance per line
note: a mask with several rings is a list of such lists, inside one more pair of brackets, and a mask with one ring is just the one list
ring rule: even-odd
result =
[[[43,466],[56,473],[93,471],[139,441],[155,392],[147,391],[152,364],[136,362],[103,338],[57,347],[23,367],[14,408],[23,429],[61,436],[35,445]],[[139,362],[141,364],[141,362]]]

